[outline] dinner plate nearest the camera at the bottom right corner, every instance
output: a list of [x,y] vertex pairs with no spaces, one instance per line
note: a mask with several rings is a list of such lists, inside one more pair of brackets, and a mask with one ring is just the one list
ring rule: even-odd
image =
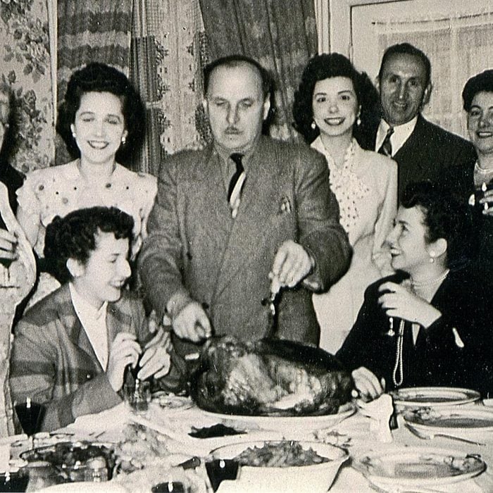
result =
[[442,487],[482,473],[485,461],[453,449],[399,447],[370,452],[353,463],[373,485],[388,487]]

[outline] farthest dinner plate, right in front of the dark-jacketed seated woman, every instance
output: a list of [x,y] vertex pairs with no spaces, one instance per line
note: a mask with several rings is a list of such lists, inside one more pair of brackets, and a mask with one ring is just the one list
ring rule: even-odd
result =
[[390,392],[400,410],[418,407],[461,406],[480,401],[479,392],[455,387],[409,387]]

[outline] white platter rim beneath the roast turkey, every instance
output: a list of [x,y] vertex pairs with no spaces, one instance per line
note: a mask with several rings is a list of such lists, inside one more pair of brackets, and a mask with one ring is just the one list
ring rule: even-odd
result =
[[239,421],[246,426],[251,425],[254,429],[294,434],[332,428],[332,426],[352,416],[356,412],[356,406],[353,403],[344,404],[339,408],[338,413],[323,416],[241,416],[211,413],[210,411],[202,412],[221,420]]

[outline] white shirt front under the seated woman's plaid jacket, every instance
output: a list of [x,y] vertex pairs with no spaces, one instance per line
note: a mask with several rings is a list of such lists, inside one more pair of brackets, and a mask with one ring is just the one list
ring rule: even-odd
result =
[[106,326],[108,302],[105,301],[98,310],[77,292],[71,282],[68,287],[75,313],[77,313],[77,317],[89,338],[99,363],[106,370],[106,365],[108,364],[108,327]]

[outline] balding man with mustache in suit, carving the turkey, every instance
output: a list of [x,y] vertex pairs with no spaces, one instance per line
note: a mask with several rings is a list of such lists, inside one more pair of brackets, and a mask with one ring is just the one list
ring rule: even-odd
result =
[[262,299],[279,288],[273,335],[318,344],[311,291],[328,289],[351,251],[325,160],[261,135],[270,81],[256,61],[221,58],[204,75],[213,143],[161,167],[139,255],[146,294],[182,356],[212,332],[271,335]]

